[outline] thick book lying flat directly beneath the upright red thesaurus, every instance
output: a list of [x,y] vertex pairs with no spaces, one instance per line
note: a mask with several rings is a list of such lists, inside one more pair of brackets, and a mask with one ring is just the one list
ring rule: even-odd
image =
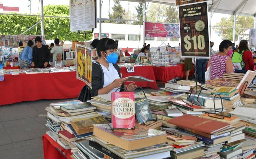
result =
[[165,143],[166,132],[135,124],[135,129],[111,129],[111,124],[95,124],[93,135],[125,150]]

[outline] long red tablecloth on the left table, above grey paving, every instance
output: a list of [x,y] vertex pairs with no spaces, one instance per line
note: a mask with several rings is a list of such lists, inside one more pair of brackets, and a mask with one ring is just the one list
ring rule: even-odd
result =
[[40,99],[77,98],[84,82],[76,72],[4,75],[0,81],[0,106]]

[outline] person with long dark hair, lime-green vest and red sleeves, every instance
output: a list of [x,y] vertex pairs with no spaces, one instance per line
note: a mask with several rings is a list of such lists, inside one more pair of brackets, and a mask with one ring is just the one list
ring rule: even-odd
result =
[[232,55],[232,62],[236,73],[246,73],[248,70],[254,71],[252,52],[248,48],[248,41],[241,40],[237,50]]

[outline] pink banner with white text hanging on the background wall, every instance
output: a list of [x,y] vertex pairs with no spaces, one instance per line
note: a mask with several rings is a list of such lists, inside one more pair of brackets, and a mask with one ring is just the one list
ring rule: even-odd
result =
[[145,37],[179,38],[180,27],[175,23],[145,22]]

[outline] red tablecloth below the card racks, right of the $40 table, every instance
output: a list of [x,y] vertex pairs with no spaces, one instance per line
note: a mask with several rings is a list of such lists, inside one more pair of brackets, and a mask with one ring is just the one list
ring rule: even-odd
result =
[[183,72],[181,66],[169,66],[169,67],[156,67],[153,66],[156,80],[169,81],[175,77],[183,78]]

